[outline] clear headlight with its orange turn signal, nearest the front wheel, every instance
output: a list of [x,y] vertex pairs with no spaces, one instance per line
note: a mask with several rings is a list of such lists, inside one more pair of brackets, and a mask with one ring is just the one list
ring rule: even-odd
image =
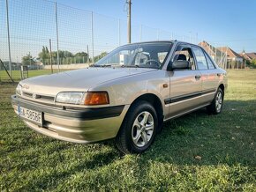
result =
[[56,102],[75,105],[106,105],[109,104],[108,92],[59,92]]

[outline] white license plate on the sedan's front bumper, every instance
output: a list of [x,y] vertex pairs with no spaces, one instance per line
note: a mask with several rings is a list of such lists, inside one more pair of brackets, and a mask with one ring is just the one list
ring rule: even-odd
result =
[[18,112],[21,118],[24,118],[30,122],[35,122],[36,124],[39,124],[39,125],[42,124],[41,112],[34,111],[26,107],[20,107],[20,106],[18,107]]

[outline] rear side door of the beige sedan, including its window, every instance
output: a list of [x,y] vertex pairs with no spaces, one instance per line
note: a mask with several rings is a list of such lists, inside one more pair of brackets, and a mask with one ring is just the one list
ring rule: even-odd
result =
[[[197,69],[200,70],[202,92],[201,92],[201,102],[208,103],[214,99],[216,90],[216,79],[213,69],[209,70],[207,57],[204,50],[197,46],[192,46],[193,54],[195,55],[195,60],[197,64]],[[209,58],[208,58],[209,59]]]

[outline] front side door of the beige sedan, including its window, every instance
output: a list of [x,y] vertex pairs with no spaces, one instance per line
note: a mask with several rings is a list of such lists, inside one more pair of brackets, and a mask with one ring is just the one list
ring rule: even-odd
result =
[[192,65],[191,69],[171,70],[169,75],[169,117],[184,114],[195,107],[200,106],[202,83],[200,70],[196,69],[194,55],[189,44],[177,46],[169,64],[176,60],[186,60]]

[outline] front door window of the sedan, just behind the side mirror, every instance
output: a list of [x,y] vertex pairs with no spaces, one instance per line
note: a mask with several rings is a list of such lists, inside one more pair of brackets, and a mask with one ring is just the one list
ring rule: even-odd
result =
[[191,63],[191,70],[195,70],[195,62],[192,55],[192,49],[185,46],[178,46],[173,57],[173,62],[177,60],[185,60]]

